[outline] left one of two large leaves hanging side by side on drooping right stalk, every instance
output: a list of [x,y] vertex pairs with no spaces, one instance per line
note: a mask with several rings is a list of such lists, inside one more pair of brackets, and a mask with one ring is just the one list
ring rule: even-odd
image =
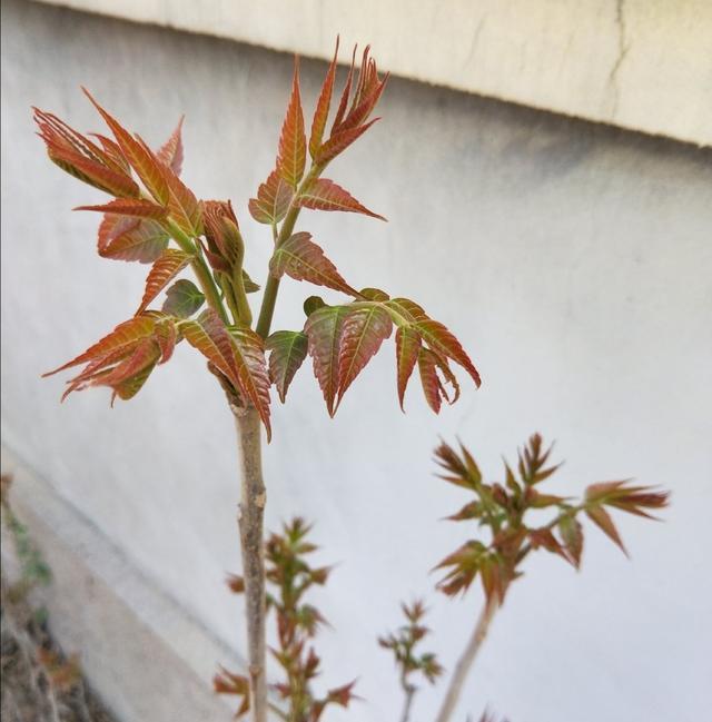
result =
[[342,323],[347,313],[345,306],[324,306],[315,310],[304,326],[309,339],[309,356],[314,360],[314,375],[319,382],[329,416],[334,416],[335,411]]

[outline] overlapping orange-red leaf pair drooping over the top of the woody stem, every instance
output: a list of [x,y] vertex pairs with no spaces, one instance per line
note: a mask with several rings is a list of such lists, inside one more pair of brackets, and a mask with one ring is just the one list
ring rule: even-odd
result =
[[230,380],[246,402],[251,402],[269,438],[269,375],[263,339],[249,328],[229,332],[211,308],[195,320],[181,322],[180,330],[186,340]]

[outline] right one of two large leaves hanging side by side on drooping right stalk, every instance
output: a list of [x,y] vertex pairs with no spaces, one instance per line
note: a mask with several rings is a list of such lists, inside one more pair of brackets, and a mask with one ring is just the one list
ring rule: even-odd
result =
[[378,352],[393,329],[393,322],[385,308],[375,304],[358,306],[349,310],[342,325],[337,408],[356,376]]

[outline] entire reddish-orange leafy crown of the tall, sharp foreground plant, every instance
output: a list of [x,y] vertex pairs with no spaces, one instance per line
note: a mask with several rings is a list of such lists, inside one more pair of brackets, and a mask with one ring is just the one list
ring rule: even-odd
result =
[[[256,325],[247,294],[259,287],[244,268],[245,241],[233,206],[229,201],[199,200],[179,178],[182,119],[162,147],[151,149],[87,91],[112,138],[93,135],[92,139],[52,113],[34,110],[50,159],[79,180],[112,196],[107,204],[79,207],[102,214],[99,255],[151,264],[146,290],[132,318],[50,372],[83,365],[68,382],[65,396],[90,386],[108,386],[112,399],[131,398],[154,368],[169,360],[176,344],[185,339],[207,358],[230,403],[256,408],[269,435],[273,385],[284,402],[296,372],[309,355],[327,411],[334,415],[346,390],[392,335],[394,326],[402,406],[416,365],[426,400],[436,413],[443,399],[453,403],[459,393],[451,362],[462,366],[479,385],[476,368],[445,326],[412,300],[390,298],[373,288],[357,290],[310,234],[294,230],[303,208],[383,219],[323,174],[336,156],[377,120],[370,119],[370,115],[387,76],[378,76],[368,48],[358,72],[352,61],[327,132],[335,79],[336,53],[317,100],[307,141],[299,67],[295,62],[276,166],[248,205],[255,220],[270,226],[274,239]],[[188,267],[198,286],[188,279],[176,280]],[[312,297],[305,304],[307,320],[303,329],[270,335],[279,280],[284,276],[332,288],[350,296],[350,300],[329,306]],[[166,300],[154,307],[162,291]],[[204,304],[206,310],[198,314]],[[265,352],[269,353],[268,359]]]

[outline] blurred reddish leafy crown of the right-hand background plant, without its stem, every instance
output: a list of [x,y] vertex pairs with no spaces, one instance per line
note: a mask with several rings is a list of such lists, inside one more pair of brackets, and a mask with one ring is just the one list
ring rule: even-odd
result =
[[[666,492],[629,482],[593,484],[580,502],[544,493],[540,485],[561,466],[546,466],[551,451],[544,449],[542,437],[534,434],[518,454],[516,473],[505,463],[504,483],[488,484],[464,446],[459,452],[447,444],[436,449],[437,463],[444,472],[442,478],[475,496],[448,518],[475,521],[490,531],[488,540],[471,540],[438,564],[437,568],[447,570],[438,584],[442,592],[449,596],[464,594],[479,576],[487,601],[500,604],[510,584],[522,576],[522,563],[535,550],[556,554],[578,567],[583,552],[583,527],[578,521],[582,514],[625,552],[606,507],[652,518],[645,510],[668,504]],[[535,510],[552,510],[553,515],[545,524],[533,524],[526,515]]]

